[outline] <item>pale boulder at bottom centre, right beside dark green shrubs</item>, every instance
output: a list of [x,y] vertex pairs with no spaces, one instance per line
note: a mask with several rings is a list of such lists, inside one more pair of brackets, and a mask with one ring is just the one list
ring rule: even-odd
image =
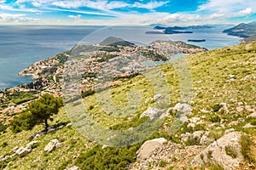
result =
[[139,150],[137,150],[137,161],[147,161],[149,156],[152,156],[154,151],[163,147],[167,140],[164,138],[152,139],[144,142]]

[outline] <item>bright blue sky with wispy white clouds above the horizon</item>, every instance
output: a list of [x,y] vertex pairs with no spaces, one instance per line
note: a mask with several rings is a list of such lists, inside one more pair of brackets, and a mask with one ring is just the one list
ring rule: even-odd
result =
[[255,0],[0,0],[0,25],[187,26],[253,20]]

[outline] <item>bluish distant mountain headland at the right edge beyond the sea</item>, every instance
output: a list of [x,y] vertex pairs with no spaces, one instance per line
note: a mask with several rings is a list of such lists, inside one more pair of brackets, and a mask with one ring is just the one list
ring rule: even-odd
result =
[[256,36],[256,21],[253,21],[248,24],[241,23],[230,29],[224,30],[223,32],[227,33],[230,36],[253,37]]

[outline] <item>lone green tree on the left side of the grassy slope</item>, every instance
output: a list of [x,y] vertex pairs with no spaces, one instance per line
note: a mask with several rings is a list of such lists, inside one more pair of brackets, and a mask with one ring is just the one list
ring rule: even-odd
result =
[[34,124],[44,123],[45,131],[49,127],[48,120],[52,120],[53,115],[57,114],[63,105],[60,98],[55,98],[53,95],[44,94],[42,98],[32,102],[29,105],[28,111],[31,112],[31,118]]

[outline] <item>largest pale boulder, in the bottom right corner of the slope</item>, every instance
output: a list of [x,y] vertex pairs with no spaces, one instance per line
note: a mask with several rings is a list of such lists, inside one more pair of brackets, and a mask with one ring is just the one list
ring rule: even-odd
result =
[[[190,167],[207,166],[208,164],[218,165],[224,169],[231,170],[239,166],[239,163],[243,161],[241,155],[241,145],[239,140],[241,133],[233,132],[224,134],[224,136],[217,141],[210,144],[205,150],[191,161]],[[232,157],[226,153],[225,148],[230,147],[236,153],[236,156]]]

